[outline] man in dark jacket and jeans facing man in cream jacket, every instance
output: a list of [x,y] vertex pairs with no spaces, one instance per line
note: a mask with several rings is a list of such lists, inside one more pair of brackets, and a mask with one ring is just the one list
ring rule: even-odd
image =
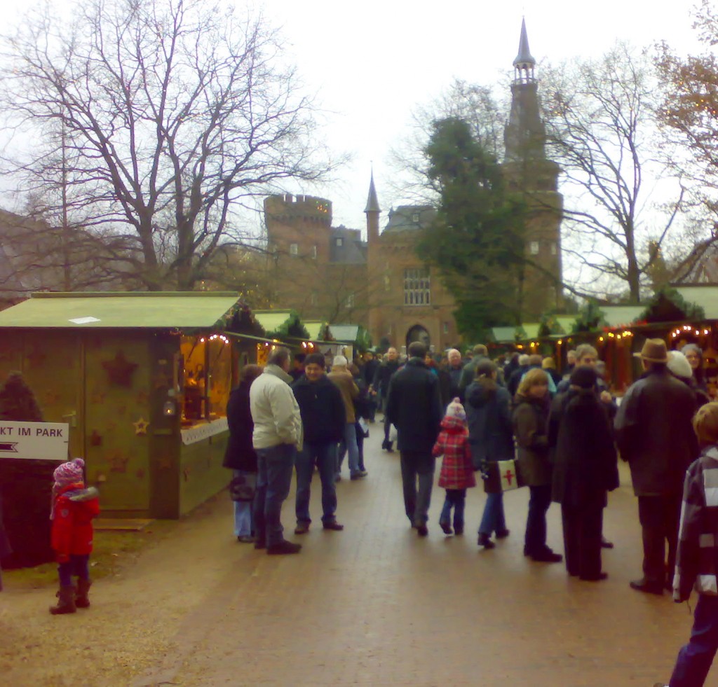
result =
[[304,447],[297,454],[297,528],[294,534],[309,531],[309,498],[314,463],[322,480],[322,526],[342,530],[337,522],[337,488],[335,471],[337,442],[344,437],[347,420],[342,392],[325,374],[325,358],[312,353],[304,360],[304,376],[292,384],[304,427]]

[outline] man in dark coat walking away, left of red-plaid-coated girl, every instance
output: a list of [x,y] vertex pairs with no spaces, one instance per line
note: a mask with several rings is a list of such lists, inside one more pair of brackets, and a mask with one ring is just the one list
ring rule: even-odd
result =
[[424,362],[426,346],[414,341],[409,344],[408,353],[406,365],[391,378],[386,417],[398,430],[406,517],[419,536],[426,536],[436,462],[432,449],[439,436],[443,412],[439,379]]

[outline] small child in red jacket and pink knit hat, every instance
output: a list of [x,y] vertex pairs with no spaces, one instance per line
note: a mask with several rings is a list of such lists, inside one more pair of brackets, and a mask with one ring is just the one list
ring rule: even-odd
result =
[[[62,463],[53,473],[52,486],[52,549],[57,555],[60,591],[57,605],[50,607],[52,615],[74,613],[78,607],[90,605],[89,561],[92,551],[93,518],[100,513],[98,491],[85,488],[85,461],[75,458]],[[78,578],[78,586],[73,584]]]

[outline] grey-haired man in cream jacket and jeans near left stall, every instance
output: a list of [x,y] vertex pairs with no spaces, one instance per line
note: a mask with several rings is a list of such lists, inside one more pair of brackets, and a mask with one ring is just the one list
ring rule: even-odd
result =
[[297,554],[301,544],[284,539],[281,504],[289,496],[294,458],[302,447],[302,416],[289,387],[289,350],[272,352],[264,372],[252,382],[249,407],[254,422],[252,444],[257,452],[254,496],[255,549]]

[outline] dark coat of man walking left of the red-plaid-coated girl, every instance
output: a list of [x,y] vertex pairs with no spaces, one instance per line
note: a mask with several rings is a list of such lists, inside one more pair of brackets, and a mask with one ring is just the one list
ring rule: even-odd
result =
[[431,455],[444,412],[439,378],[421,358],[410,358],[391,378],[386,417],[398,432],[398,450]]

